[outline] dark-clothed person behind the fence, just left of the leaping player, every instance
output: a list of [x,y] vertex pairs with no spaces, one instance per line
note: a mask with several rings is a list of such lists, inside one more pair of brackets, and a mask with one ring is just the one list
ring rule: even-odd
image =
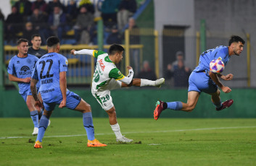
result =
[[191,71],[188,67],[184,66],[184,61],[178,60],[178,66],[173,71],[174,86],[188,87],[190,74],[191,74]]

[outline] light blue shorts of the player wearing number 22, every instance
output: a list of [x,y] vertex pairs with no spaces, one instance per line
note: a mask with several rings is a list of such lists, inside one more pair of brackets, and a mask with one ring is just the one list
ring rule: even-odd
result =
[[[75,110],[80,101],[81,97],[79,95],[71,91],[67,92],[66,108],[69,108],[70,110]],[[62,102],[62,97],[59,97],[59,100],[57,102],[44,102],[44,109],[48,111],[54,110],[55,105],[59,105],[60,102]]]

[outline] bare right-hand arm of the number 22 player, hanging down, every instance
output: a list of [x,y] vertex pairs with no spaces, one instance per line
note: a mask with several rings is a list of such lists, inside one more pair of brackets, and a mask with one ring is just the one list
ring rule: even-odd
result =
[[64,108],[67,102],[67,79],[66,79],[66,71],[62,71],[59,73],[59,87],[62,91],[62,102],[59,104],[59,108]]

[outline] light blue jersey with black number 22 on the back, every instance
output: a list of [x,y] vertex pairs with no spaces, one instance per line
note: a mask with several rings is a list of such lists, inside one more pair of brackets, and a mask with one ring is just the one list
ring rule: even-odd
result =
[[62,97],[59,86],[62,71],[67,71],[67,58],[59,53],[47,53],[36,63],[32,78],[40,82],[39,92],[44,102],[57,102]]

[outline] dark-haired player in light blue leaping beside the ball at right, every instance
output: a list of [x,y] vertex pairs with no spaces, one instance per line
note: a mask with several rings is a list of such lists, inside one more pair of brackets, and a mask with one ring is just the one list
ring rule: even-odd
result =
[[233,100],[221,102],[220,90],[225,93],[231,92],[229,87],[224,86],[218,77],[224,80],[233,79],[233,74],[226,76],[222,74],[215,74],[210,71],[210,61],[213,59],[221,59],[226,65],[231,56],[239,56],[244,49],[244,40],[239,36],[233,35],[228,42],[228,47],[220,45],[216,48],[205,51],[199,58],[199,65],[194,69],[189,77],[189,92],[188,100],[184,102],[162,102],[157,101],[156,108],[154,109],[154,119],[157,120],[166,108],[171,110],[183,110],[191,112],[197,105],[197,101],[201,92],[205,92],[212,96],[212,103],[215,105],[216,110],[223,110],[233,104]]

